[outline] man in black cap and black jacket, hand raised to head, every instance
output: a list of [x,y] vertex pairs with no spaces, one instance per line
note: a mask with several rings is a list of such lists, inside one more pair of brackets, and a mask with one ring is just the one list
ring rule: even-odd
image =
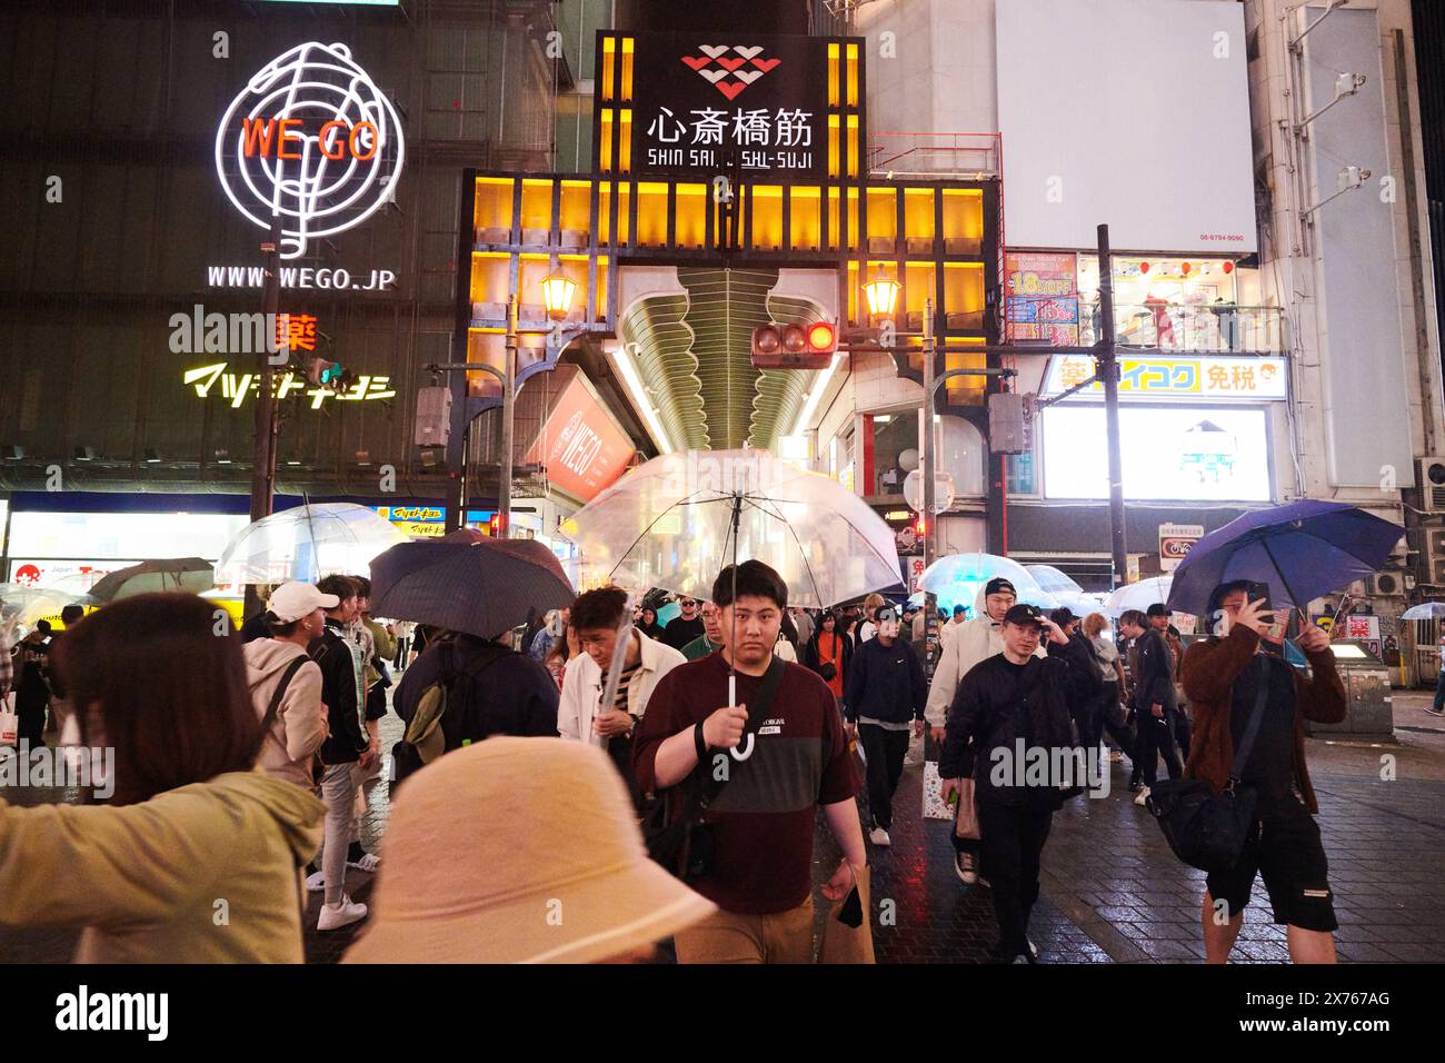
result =
[[[1039,659],[1033,654],[1045,632],[1049,655]],[[1032,963],[1027,931],[1039,858],[1055,810],[1087,775],[1069,717],[1087,700],[1091,677],[1068,662],[1068,636],[1035,606],[1013,606],[1000,636],[1003,652],[958,684],[938,771],[945,801],[965,777],[974,778],[983,874],[998,920],[991,955],[1000,963]]]

